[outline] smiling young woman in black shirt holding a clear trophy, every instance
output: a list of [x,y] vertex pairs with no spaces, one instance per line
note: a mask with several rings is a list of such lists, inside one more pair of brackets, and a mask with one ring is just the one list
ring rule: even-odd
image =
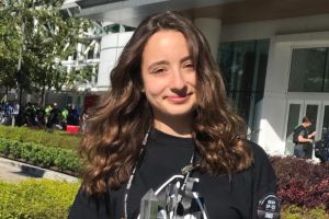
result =
[[141,22],[111,84],[88,120],[88,165],[69,218],[258,217],[275,193],[273,169],[245,139],[206,39],[188,19],[164,12]]

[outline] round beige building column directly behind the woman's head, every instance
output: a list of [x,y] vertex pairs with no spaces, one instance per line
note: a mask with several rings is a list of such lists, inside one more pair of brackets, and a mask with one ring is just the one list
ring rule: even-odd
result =
[[222,30],[222,20],[219,19],[208,19],[208,18],[197,18],[194,20],[195,26],[204,34],[206,37],[212,55],[217,61],[217,54],[219,48],[219,38]]

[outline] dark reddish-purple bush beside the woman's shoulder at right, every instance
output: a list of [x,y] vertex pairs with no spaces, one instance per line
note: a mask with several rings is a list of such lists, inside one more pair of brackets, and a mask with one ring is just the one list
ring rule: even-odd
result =
[[328,165],[293,157],[272,157],[271,162],[277,176],[277,196],[282,205],[324,206],[329,211]]

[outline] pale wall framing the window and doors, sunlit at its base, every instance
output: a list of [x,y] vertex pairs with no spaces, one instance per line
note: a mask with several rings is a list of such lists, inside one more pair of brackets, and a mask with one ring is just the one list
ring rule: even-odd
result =
[[[293,48],[329,47],[329,32],[277,35],[271,37],[259,143],[270,153],[285,151],[287,92]],[[303,93],[294,99],[304,99]],[[317,94],[311,94],[317,99]]]

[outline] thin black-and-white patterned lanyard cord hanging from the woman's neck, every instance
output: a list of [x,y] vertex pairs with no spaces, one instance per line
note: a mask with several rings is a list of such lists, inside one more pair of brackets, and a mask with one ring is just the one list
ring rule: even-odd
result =
[[[125,189],[125,193],[124,193],[124,216],[122,217],[122,219],[127,219],[128,218],[128,212],[127,212],[127,199],[128,199],[128,193],[129,193],[129,189],[132,187],[132,183],[133,183],[133,180],[135,177],[135,172],[136,172],[136,169],[140,162],[140,157],[145,150],[145,147],[146,147],[146,143],[147,143],[147,140],[148,140],[148,136],[149,136],[149,132],[150,132],[150,127],[148,128],[144,139],[143,139],[143,147],[140,149],[140,153],[139,153],[139,158],[138,160],[136,161],[136,165],[132,172],[132,175],[129,176],[129,180],[128,180],[128,183],[126,185],[126,189]],[[182,175],[184,175],[184,180],[183,180],[183,184],[181,186],[181,189],[184,189],[185,185],[186,185],[186,182],[188,182],[188,177],[190,176],[191,172],[194,170],[195,165],[194,165],[194,159],[195,159],[195,150],[193,151],[193,154],[191,157],[191,160],[190,160],[190,163],[184,166],[181,172],[182,172]]]

